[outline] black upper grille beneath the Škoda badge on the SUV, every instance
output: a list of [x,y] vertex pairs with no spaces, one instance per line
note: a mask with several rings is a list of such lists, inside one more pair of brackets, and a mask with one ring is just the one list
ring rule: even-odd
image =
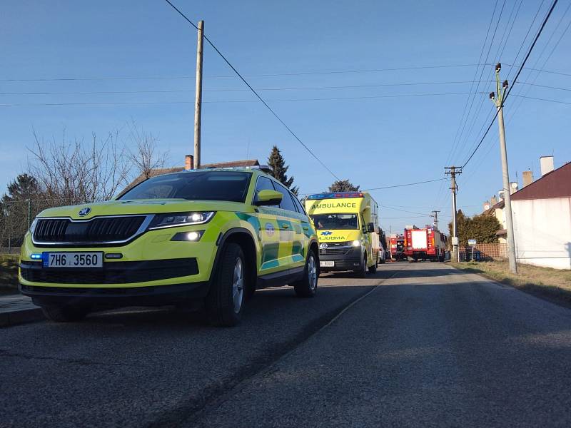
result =
[[34,228],[37,244],[93,244],[121,243],[137,233],[145,215],[98,217],[73,221],[69,218],[39,218]]

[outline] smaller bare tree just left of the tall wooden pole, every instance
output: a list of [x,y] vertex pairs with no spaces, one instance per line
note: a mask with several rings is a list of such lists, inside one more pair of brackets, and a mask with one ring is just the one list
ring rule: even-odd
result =
[[164,168],[168,152],[158,151],[158,138],[150,132],[138,129],[134,121],[129,124],[129,138],[136,145],[129,151],[129,157],[139,176],[151,178],[153,170]]

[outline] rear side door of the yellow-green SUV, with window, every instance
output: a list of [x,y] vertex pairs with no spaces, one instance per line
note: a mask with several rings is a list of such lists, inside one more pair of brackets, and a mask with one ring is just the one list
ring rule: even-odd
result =
[[295,206],[290,191],[283,185],[273,181],[274,188],[283,195],[280,203],[281,213],[278,215],[280,231],[280,249],[278,260],[280,266],[292,268],[305,264],[303,241],[301,240],[301,215]]

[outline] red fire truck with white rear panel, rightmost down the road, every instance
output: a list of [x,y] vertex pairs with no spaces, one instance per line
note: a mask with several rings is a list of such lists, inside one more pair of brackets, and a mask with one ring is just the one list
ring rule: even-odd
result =
[[404,253],[405,256],[413,258],[415,261],[429,259],[435,262],[443,262],[446,241],[446,235],[432,226],[425,228],[417,228],[414,225],[406,226]]

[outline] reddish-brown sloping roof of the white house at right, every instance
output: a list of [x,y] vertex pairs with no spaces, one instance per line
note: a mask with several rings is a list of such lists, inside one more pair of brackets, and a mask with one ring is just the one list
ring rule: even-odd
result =
[[512,200],[571,198],[571,163],[566,163],[517,190]]

